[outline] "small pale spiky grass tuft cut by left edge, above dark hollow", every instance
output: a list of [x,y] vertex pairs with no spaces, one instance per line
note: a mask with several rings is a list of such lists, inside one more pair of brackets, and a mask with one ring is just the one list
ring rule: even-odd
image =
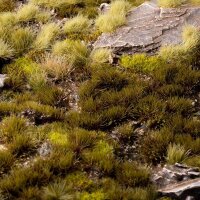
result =
[[11,59],[14,56],[14,49],[5,41],[0,39],[0,58],[2,59]]

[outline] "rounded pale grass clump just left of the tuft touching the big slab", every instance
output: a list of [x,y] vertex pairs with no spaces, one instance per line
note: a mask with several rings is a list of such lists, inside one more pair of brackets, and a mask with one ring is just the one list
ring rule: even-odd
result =
[[67,34],[86,33],[90,26],[90,20],[83,16],[78,15],[69,19],[63,26],[63,30]]

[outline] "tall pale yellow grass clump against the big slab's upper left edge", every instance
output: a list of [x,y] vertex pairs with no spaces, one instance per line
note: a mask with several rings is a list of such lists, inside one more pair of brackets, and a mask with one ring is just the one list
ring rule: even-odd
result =
[[101,32],[112,32],[117,27],[126,23],[126,14],[130,4],[125,0],[117,0],[111,3],[108,13],[100,15],[96,19],[96,26]]

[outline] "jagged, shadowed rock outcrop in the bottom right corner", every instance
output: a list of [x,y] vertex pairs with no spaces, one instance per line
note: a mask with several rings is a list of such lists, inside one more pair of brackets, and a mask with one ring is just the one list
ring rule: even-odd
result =
[[156,169],[152,181],[157,185],[160,196],[177,200],[200,199],[199,168],[176,163]]

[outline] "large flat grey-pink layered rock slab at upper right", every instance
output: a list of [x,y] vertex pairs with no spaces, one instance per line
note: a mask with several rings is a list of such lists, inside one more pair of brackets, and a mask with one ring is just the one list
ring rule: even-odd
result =
[[161,46],[180,44],[185,24],[200,27],[200,7],[159,8],[145,2],[129,12],[126,25],[114,33],[103,33],[94,48],[108,47],[118,55],[152,54]]

